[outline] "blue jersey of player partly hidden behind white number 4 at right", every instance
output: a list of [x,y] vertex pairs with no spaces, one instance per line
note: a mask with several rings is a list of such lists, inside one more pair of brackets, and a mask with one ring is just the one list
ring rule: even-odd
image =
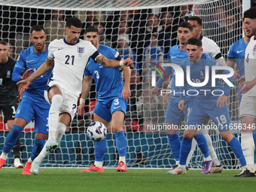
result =
[[236,59],[237,70],[239,70],[239,75],[245,75],[245,49],[248,44],[245,43],[244,38],[239,39],[230,46],[230,50],[227,56],[230,59]]

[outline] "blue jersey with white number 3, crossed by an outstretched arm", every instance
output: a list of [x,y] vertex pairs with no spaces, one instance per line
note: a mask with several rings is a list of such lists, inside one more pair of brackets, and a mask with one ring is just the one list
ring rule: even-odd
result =
[[[117,59],[117,56],[119,56],[116,50],[102,44],[99,45],[98,51],[108,59]],[[84,75],[93,75],[99,101],[121,96],[123,81],[119,68],[106,68],[90,59]]]

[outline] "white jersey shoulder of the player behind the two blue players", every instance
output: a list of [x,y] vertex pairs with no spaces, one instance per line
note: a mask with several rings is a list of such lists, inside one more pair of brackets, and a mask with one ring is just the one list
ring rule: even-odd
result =
[[206,53],[207,55],[211,56],[212,59],[214,59],[215,56],[218,55],[218,53],[221,53],[220,47],[218,47],[218,44],[216,44],[215,41],[212,41],[212,39],[203,36],[201,41],[203,53]]

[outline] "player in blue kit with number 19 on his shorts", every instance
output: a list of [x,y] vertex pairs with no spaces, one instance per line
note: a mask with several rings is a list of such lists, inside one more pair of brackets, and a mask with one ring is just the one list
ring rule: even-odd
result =
[[[184,131],[184,136],[181,141],[180,163],[176,169],[169,172],[169,174],[172,175],[187,173],[185,166],[187,155],[190,152],[192,139],[194,136],[197,137],[202,135],[198,128],[202,123],[206,123],[210,118],[213,120],[216,127],[218,127],[223,139],[228,145],[230,145],[234,154],[236,154],[241,166],[246,166],[241,144],[233,136],[230,130],[230,116],[227,108],[227,96],[230,91],[230,86],[227,85],[226,82],[223,87],[219,79],[216,79],[215,86],[212,86],[212,67],[221,66],[221,64],[202,52],[202,41],[199,38],[190,38],[187,41],[187,55],[189,59],[182,62],[181,67],[185,74],[184,77],[186,77],[186,73],[189,72],[187,68],[190,68],[190,75],[188,77],[192,80],[196,80],[196,83],[194,83],[194,91],[197,91],[198,94],[197,96],[194,96],[194,106],[187,118],[186,128],[188,129]],[[208,67],[209,71],[206,70],[206,67]],[[206,72],[208,72],[209,75],[206,74]],[[230,72],[227,70],[218,70],[218,72],[216,72],[217,75],[228,75],[229,73]],[[208,79],[206,77],[208,77]],[[227,80],[233,82],[233,75],[229,75],[229,77],[230,78],[227,78]],[[192,81],[190,81],[190,83],[192,83]],[[196,84],[197,86],[195,86]],[[198,84],[202,84],[202,86],[198,87]],[[180,87],[180,92],[183,91],[184,93],[187,93],[186,79],[184,79],[184,87]],[[215,94],[212,94],[213,92],[215,92]],[[178,108],[185,110],[185,97],[183,94],[180,94],[180,96],[181,101],[178,103]],[[209,156],[209,151],[207,156],[204,154],[204,157],[206,163],[203,172],[201,173],[207,174],[212,168],[212,159]]]

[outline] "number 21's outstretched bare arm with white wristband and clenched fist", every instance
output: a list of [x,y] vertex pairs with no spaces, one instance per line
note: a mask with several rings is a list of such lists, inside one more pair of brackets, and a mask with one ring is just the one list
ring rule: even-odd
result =
[[133,60],[130,58],[127,58],[124,61],[117,61],[115,59],[108,59],[102,55],[97,56],[96,62],[99,62],[99,64],[102,64],[102,66],[105,66],[107,68],[117,68],[117,67],[121,67],[121,66],[132,66],[133,65]]

